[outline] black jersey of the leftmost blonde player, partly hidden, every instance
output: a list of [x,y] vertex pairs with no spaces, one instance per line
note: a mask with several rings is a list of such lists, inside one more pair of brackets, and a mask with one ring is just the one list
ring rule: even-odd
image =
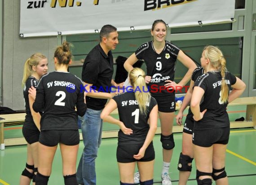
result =
[[31,115],[31,110],[29,107],[28,90],[29,88],[31,88],[31,86],[36,88],[37,84],[38,84],[38,80],[33,76],[29,76],[28,79],[26,80],[26,84],[23,89],[23,97],[24,97],[25,108],[26,108],[26,116],[25,116],[25,122],[23,127],[26,127],[26,128],[36,128],[33,117]]

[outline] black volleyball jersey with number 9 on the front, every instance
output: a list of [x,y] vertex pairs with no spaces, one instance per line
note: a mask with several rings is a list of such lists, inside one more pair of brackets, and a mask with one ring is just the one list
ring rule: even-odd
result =
[[[144,60],[147,68],[147,75],[151,76],[149,84],[152,96],[163,96],[170,94],[163,89],[165,80],[174,80],[175,64],[180,49],[172,43],[165,41],[163,51],[158,54],[154,50],[153,41],[141,45],[135,52],[137,59]],[[159,86],[162,86],[160,88]],[[175,94],[175,91],[171,94]]]

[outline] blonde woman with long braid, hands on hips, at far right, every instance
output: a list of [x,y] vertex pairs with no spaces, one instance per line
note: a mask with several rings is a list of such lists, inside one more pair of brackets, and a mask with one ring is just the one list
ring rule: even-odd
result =
[[226,70],[225,58],[215,46],[203,49],[201,65],[206,73],[195,81],[190,102],[196,180],[198,185],[211,185],[212,179],[216,185],[228,185],[225,154],[230,120],[226,107],[243,93],[246,85]]

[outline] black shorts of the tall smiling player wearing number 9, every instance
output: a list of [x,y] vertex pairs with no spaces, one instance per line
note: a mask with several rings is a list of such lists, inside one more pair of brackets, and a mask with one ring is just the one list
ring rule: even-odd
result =
[[[153,94],[154,95],[154,94]],[[157,102],[160,112],[175,112],[176,102],[175,95],[172,96],[153,96]]]

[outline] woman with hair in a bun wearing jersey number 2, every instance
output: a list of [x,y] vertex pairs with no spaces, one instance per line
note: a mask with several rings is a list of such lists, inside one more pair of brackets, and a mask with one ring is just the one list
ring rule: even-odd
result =
[[[77,117],[86,111],[83,83],[67,69],[71,64],[69,43],[64,41],[54,53],[56,71],[44,75],[36,89],[33,109],[44,110],[40,121],[38,172],[35,185],[47,185],[59,143],[65,185],[77,185],[76,159],[79,147]],[[77,111],[75,111],[75,106]]]

